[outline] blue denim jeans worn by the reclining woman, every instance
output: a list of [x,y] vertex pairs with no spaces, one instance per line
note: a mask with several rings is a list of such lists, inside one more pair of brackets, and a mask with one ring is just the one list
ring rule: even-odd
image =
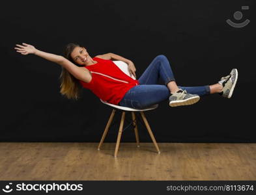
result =
[[[159,79],[164,81],[164,85],[158,85]],[[139,77],[139,85],[128,90],[119,105],[134,109],[144,109],[165,101],[171,95],[169,88],[167,88],[167,84],[170,81],[175,81],[175,77],[169,61],[164,55],[158,55]],[[199,96],[210,94],[210,86],[208,85],[178,86],[178,88]]]

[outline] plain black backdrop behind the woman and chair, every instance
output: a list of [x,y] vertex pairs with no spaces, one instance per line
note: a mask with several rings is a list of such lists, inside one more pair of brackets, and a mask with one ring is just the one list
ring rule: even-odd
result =
[[[225,22],[235,22],[236,11],[244,14],[237,22],[250,19],[246,27]],[[99,142],[111,108],[89,90],[79,101],[64,98],[59,65],[14,49],[25,42],[63,55],[64,45],[77,42],[91,57],[111,52],[132,60],[137,77],[163,54],[181,86],[210,85],[238,68],[231,99],[214,94],[175,108],[164,101],[145,114],[158,142],[255,142],[255,12],[253,0],[5,1],[0,140]],[[117,129],[113,125],[106,142],[116,141]],[[150,142],[146,129],[139,130],[141,142]],[[132,129],[122,142],[135,142]]]

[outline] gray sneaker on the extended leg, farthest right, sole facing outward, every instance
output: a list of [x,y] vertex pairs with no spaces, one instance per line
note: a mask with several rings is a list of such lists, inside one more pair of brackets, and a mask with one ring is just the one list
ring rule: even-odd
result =
[[234,88],[236,86],[236,81],[238,78],[238,71],[236,68],[233,68],[229,75],[226,77],[221,77],[221,80],[218,82],[223,86],[223,91],[219,94],[224,98],[231,98]]

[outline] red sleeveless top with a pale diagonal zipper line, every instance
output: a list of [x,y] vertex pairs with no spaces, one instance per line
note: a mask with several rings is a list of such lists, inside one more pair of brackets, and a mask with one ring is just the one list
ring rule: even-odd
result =
[[96,60],[97,63],[84,66],[91,72],[91,81],[85,83],[79,80],[79,83],[103,101],[118,105],[130,88],[139,85],[138,80],[134,80],[122,72],[112,60],[104,60],[98,57],[92,59]]

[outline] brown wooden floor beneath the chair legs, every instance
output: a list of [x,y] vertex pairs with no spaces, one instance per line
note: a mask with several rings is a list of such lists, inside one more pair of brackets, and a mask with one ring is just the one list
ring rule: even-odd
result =
[[1,142],[0,180],[256,180],[256,144]]

